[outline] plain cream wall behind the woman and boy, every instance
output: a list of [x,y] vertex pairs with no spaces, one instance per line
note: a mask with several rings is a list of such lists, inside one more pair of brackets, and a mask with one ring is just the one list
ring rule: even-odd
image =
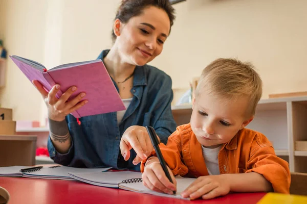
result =
[[[102,49],[111,47],[120,0],[0,2],[9,8],[5,25],[0,24],[9,54],[53,67],[95,59]],[[264,81],[263,98],[306,91],[307,1],[187,0],[174,8],[177,19],[169,39],[162,55],[150,63],[171,76],[173,104],[189,88],[189,81],[218,57],[251,61]],[[14,108],[16,120],[43,121],[46,108],[40,95],[11,62],[8,68],[0,103]]]

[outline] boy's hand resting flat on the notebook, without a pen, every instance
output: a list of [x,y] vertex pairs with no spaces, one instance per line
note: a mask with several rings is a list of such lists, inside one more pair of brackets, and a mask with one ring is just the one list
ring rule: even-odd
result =
[[226,195],[230,191],[230,183],[226,174],[200,176],[186,190],[181,193],[182,197],[196,199],[211,199],[217,196]]

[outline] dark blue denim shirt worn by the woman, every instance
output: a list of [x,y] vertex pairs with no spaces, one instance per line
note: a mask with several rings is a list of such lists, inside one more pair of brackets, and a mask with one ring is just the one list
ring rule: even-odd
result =
[[[103,50],[98,59],[103,60],[108,51]],[[114,80],[113,83],[119,91]],[[136,157],[133,149],[130,150],[129,160],[123,159],[120,140],[129,126],[150,125],[161,142],[166,144],[168,136],[176,130],[170,105],[173,98],[171,78],[156,67],[136,66],[131,93],[133,99],[119,124],[116,112],[81,117],[80,125],[71,114],[66,116],[72,145],[67,154],[60,154],[49,136],[48,150],[54,162],[72,167],[113,167],[140,171],[140,164],[135,166],[132,163]]]

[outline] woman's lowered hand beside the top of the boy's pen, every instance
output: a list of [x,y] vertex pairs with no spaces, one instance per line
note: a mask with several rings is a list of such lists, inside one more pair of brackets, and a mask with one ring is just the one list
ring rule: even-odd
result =
[[133,160],[134,165],[146,159],[153,150],[146,127],[138,125],[127,128],[121,138],[119,147],[126,161],[130,158],[130,149],[133,148],[136,151],[137,156]]

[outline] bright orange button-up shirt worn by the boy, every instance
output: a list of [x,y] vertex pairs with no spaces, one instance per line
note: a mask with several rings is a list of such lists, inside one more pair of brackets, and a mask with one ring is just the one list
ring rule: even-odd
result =
[[[196,139],[191,125],[184,124],[169,136],[167,144],[160,143],[163,158],[174,175],[199,177],[209,175],[202,154],[202,145]],[[156,156],[156,153],[153,152]],[[142,161],[141,172],[146,160]],[[262,174],[274,192],[288,193],[290,170],[288,162],[275,155],[271,142],[261,133],[249,129],[240,130],[236,136],[223,144],[218,152],[220,173]]]

